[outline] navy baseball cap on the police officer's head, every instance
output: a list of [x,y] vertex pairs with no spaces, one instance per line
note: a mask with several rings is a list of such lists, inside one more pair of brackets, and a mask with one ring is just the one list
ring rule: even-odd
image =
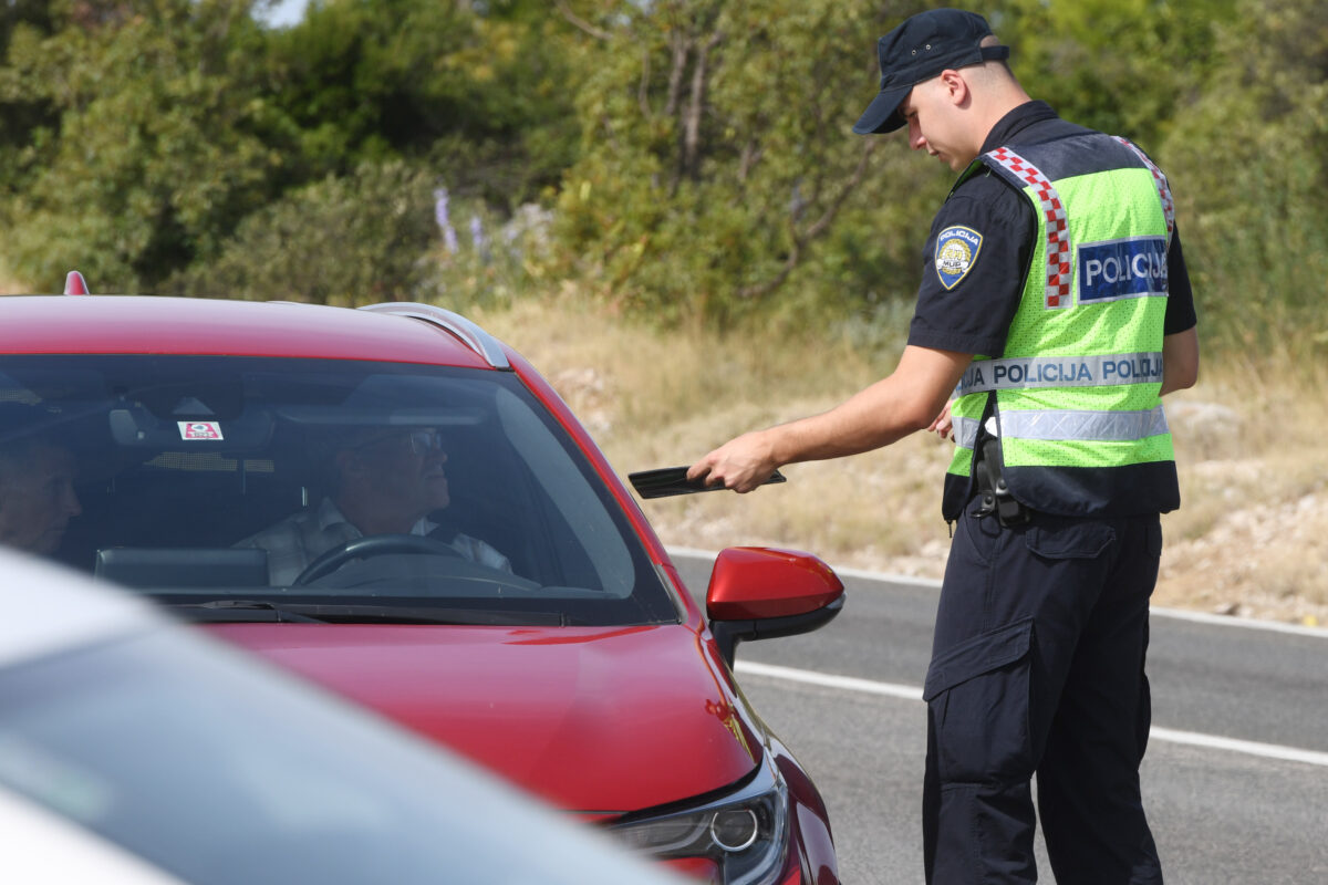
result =
[[899,105],[914,86],[950,68],[1009,58],[1009,46],[983,46],[992,33],[987,20],[963,9],[919,12],[876,41],[880,94],[867,106],[853,131],[892,133],[904,125]]

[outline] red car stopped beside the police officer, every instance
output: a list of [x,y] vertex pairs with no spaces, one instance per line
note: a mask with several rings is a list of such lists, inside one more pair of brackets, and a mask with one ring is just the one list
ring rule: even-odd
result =
[[454,313],[0,299],[0,541],[133,588],[675,869],[838,881],[819,793],[730,667],[738,641],[833,618],[839,580],[805,553],[729,549],[704,616],[548,383]]

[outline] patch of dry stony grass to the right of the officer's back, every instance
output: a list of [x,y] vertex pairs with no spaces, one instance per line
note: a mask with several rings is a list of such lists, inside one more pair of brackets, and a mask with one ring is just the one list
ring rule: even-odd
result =
[[1170,405],[1185,507],[1159,604],[1328,624],[1324,375],[1280,356],[1218,366]]

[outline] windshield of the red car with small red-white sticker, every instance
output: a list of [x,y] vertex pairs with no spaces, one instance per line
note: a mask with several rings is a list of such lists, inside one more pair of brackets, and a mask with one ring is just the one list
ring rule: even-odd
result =
[[0,541],[206,620],[677,620],[584,455],[510,372],[0,360]]

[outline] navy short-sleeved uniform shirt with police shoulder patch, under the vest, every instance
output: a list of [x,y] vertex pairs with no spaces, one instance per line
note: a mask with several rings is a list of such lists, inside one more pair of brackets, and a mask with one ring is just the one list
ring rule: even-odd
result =
[[[1057,117],[1045,102],[1031,101],[1005,114],[992,127],[981,153],[1088,131]],[[947,289],[936,271],[936,235],[956,224],[976,231],[983,240],[967,276]],[[989,169],[960,184],[931,223],[908,344],[1001,356],[1009,324],[1024,293],[1024,276],[1036,238],[1037,216],[1032,203]],[[1194,325],[1194,293],[1177,231],[1167,253],[1163,333],[1185,332]]]

